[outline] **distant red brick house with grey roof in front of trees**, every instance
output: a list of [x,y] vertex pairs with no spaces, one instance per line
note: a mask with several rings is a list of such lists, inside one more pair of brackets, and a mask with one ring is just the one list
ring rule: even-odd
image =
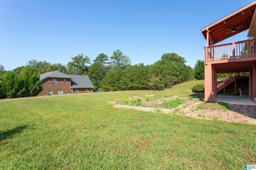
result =
[[51,71],[40,75],[43,90],[40,95],[62,95],[68,93],[92,93],[93,84],[87,75],[65,75]]

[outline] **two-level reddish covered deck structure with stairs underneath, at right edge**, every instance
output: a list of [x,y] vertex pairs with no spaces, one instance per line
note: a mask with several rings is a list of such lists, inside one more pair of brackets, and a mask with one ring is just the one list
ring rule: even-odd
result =
[[[256,99],[256,1],[204,27],[205,101],[216,101],[218,92],[247,94]],[[248,29],[247,40],[219,44]],[[223,80],[217,74],[228,73]],[[243,73],[244,75],[241,75]]]

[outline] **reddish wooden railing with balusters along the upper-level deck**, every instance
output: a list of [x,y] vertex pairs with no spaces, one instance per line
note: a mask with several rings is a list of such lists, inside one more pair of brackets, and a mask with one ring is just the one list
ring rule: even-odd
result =
[[230,42],[205,48],[205,63],[256,59],[256,39]]

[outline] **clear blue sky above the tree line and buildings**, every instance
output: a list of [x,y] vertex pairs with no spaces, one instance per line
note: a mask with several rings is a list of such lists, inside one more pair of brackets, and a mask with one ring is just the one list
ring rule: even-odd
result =
[[175,52],[194,67],[204,58],[201,29],[251,2],[1,0],[0,64],[6,70],[31,59],[66,64],[77,54],[92,61],[119,49],[132,64],[153,64]]

